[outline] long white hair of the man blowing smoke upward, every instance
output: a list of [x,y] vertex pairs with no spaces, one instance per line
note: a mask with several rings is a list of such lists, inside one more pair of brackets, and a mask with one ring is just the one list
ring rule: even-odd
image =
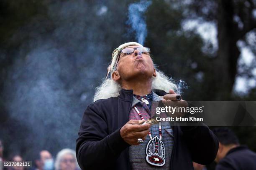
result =
[[[155,67],[156,69],[156,67]],[[177,91],[177,85],[173,83],[172,78],[164,75],[163,72],[156,69],[156,77],[152,76],[152,89],[164,90],[169,92],[169,90]],[[118,97],[119,91],[121,90],[121,85],[110,78],[104,79],[102,84],[96,87],[96,92],[93,97],[93,102],[99,99],[108,99],[109,97]]]

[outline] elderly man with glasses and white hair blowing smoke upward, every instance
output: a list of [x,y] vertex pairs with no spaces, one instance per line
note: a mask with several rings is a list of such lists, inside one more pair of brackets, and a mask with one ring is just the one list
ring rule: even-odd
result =
[[193,170],[192,161],[211,163],[218,140],[207,126],[143,124],[153,101],[174,90],[148,47],[128,42],[115,49],[107,78],[82,117],[76,146],[82,170]]

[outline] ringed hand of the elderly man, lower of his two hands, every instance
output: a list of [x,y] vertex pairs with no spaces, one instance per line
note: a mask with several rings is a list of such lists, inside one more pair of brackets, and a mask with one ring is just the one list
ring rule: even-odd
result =
[[139,145],[138,138],[146,139],[151,125],[148,123],[141,125],[143,122],[145,120],[129,120],[129,122],[123,125],[120,129],[120,135],[126,143]]

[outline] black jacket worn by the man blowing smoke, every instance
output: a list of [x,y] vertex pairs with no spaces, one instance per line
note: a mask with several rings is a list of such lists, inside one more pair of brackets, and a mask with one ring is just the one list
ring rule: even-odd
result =
[[[166,92],[154,90],[163,96]],[[111,168],[129,170],[128,145],[120,128],[128,122],[133,90],[88,105],[77,138],[77,161],[82,170]],[[192,161],[210,164],[218,151],[218,140],[206,126],[172,126],[174,147],[171,170],[193,170]]]

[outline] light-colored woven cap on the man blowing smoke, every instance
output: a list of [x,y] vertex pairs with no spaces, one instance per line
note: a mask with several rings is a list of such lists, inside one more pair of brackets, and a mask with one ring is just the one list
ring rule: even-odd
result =
[[[106,78],[108,78],[109,73],[111,73],[111,75],[112,75],[112,73],[116,70],[116,64],[117,64],[118,56],[120,55],[121,50],[123,50],[125,47],[131,46],[131,45],[138,45],[138,46],[143,47],[143,45],[139,44],[138,42],[126,42],[126,43],[120,45],[118,48],[116,48],[112,53],[112,60],[111,60],[111,64],[108,66],[108,73],[107,73]],[[111,75],[110,75],[110,77],[112,79]]]

